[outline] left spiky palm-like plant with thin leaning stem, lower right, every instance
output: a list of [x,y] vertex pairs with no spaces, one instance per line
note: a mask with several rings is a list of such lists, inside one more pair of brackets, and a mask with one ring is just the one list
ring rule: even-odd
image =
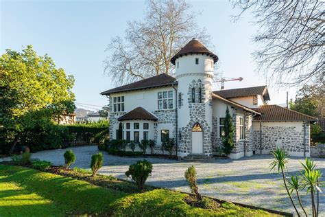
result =
[[289,192],[289,188],[287,186],[287,181],[285,179],[285,170],[287,170],[288,154],[284,150],[280,150],[279,148],[276,148],[275,151],[272,151],[272,155],[274,156],[275,159],[274,161],[271,162],[270,168],[271,170],[274,171],[276,170],[276,168],[278,168],[278,172],[281,171],[283,183],[285,183],[285,189],[287,190],[287,194],[290,198],[293,208],[296,210],[297,215],[300,216],[295,203],[293,203],[291,194]]

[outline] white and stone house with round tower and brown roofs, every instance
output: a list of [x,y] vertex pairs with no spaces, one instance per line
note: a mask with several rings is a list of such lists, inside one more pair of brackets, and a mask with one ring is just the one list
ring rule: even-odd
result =
[[309,157],[315,117],[266,104],[266,86],[213,91],[217,60],[193,38],[171,58],[175,77],[162,73],[102,92],[110,98],[110,137],[154,139],[157,153],[163,152],[165,139],[174,138],[178,158],[210,158],[222,148],[228,106],[235,128],[231,159],[268,154],[276,147]]

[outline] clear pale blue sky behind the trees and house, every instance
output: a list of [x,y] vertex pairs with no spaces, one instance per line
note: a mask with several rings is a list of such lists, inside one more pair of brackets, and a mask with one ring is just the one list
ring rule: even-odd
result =
[[[257,27],[247,13],[233,22],[239,11],[226,1],[190,1],[197,23],[212,36],[213,51],[219,56],[216,73],[224,77],[243,77],[243,81],[226,82],[226,89],[265,85],[256,72],[252,37]],[[127,22],[143,19],[145,1],[3,1],[0,0],[0,52],[21,51],[32,45],[38,55],[49,54],[57,67],[75,78],[77,107],[97,110],[108,104],[100,95],[115,87],[104,73],[104,60],[110,54],[110,38],[124,36]],[[213,89],[218,90],[219,83]],[[269,104],[284,104],[286,91],[294,98],[296,89],[269,87]]]

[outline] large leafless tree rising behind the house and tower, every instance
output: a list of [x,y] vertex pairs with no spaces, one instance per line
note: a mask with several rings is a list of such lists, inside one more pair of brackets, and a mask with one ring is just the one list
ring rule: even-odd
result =
[[170,59],[191,38],[206,45],[210,36],[199,30],[197,12],[185,0],[149,0],[142,21],[129,21],[125,37],[112,38],[105,71],[115,84],[171,73]]

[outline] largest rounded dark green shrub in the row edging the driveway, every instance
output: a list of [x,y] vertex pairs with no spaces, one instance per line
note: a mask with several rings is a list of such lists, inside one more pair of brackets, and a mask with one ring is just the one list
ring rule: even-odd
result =
[[152,163],[147,160],[138,161],[130,165],[129,170],[125,172],[127,177],[131,176],[131,179],[135,181],[136,185],[142,190],[145,181],[149,175],[152,174]]

